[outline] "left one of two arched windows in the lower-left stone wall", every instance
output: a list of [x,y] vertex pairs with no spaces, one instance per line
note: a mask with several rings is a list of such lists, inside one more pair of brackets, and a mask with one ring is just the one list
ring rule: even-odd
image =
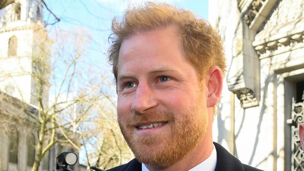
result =
[[19,135],[17,129],[11,131],[9,138],[9,162],[18,163]]

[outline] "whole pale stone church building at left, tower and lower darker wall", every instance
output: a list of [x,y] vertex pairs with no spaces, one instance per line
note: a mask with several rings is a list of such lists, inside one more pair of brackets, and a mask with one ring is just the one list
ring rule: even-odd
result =
[[[2,9],[0,20],[0,171],[30,171],[38,142],[38,127],[31,122],[37,113],[32,57],[43,45],[43,56],[49,58],[52,41],[42,22],[42,1],[5,2],[10,4]],[[43,100],[48,105],[48,95]],[[56,170],[57,155],[71,150],[57,143],[45,154],[39,170]],[[78,163],[74,167],[85,169]]]

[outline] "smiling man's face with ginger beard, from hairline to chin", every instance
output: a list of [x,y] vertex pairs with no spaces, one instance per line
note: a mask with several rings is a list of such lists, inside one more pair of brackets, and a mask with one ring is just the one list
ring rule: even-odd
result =
[[168,167],[206,134],[206,92],[170,26],[123,41],[118,62],[117,114],[135,157]]

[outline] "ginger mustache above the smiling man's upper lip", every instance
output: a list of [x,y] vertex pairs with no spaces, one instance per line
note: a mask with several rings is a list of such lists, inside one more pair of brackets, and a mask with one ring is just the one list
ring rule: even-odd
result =
[[128,120],[126,120],[127,127],[134,127],[138,123],[145,122],[174,122],[174,114],[166,110],[148,110],[144,113],[133,113]]

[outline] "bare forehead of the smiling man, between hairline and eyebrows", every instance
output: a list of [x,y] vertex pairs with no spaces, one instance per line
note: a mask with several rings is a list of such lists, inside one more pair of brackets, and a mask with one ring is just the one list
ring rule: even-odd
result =
[[[161,56],[161,58],[158,58]],[[118,70],[130,61],[175,60],[184,58],[180,32],[177,26],[138,32],[123,40],[118,60]],[[174,61],[171,61],[174,62]]]

